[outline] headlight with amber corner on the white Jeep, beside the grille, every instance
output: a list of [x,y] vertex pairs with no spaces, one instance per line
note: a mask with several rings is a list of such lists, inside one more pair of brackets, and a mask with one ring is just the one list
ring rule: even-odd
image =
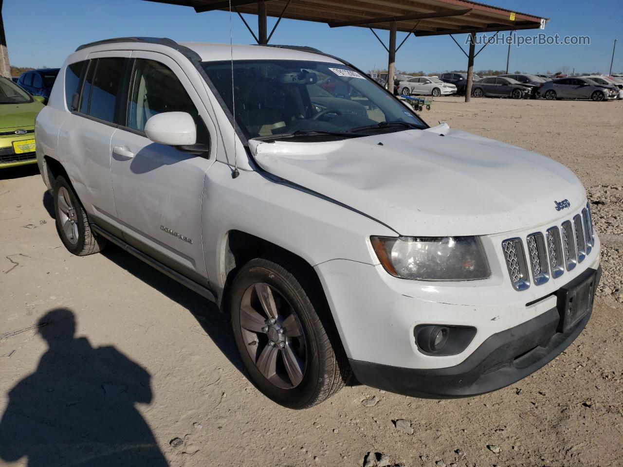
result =
[[486,279],[491,275],[478,237],[370,237],[392,276],[429,281]]

